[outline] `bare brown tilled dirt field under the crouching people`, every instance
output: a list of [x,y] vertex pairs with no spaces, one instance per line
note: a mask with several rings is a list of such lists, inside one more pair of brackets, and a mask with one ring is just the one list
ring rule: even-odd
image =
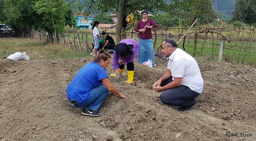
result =
[[119,83],[109,76],[127,98],[109,94],[102,116],[90,117],[70,105],[65,90],[91,60],[0,59],[0,141],[256,141],[253,67],[197,58],[204,90],[181,112],[151,89],[167,61],[156,57],[157,67],[148,68],[136,60],[133,84],[124,83],[126,71]]

